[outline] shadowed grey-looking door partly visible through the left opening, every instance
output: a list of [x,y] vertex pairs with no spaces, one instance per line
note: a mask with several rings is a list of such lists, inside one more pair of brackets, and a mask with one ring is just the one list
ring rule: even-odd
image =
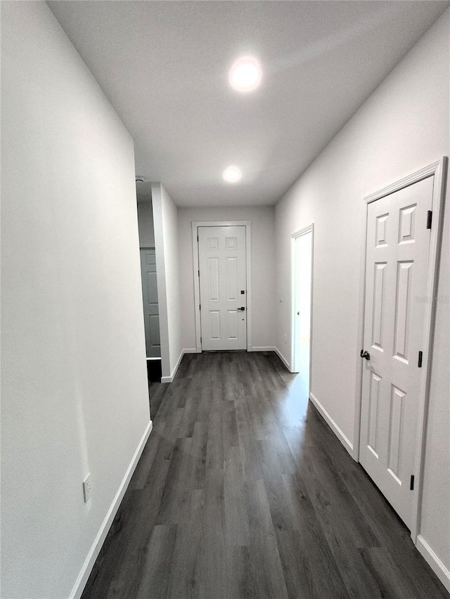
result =
[[141,276],[147,357],[160,358],[160,311],[158,307],[158,285],[156,283],[156,256],[154,248],[141,250]]

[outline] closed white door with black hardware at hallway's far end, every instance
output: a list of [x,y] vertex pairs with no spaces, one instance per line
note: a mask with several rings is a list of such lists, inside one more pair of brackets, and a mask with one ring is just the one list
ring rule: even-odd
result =
[[199,226],[202,349],[246,349],[245,226]]

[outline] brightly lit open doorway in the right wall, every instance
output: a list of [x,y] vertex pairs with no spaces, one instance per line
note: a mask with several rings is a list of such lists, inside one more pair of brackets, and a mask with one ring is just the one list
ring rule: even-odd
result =
[[314,225],[292,236],[292,371],[309,397]]

